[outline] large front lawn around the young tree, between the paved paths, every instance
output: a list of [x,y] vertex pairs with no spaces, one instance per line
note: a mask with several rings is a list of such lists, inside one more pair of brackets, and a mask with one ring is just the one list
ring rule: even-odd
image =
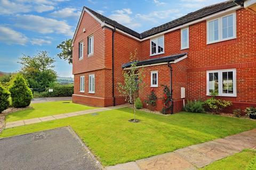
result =
[[5,129],[0,138],[71,126],[102,165],[115,165],[163,154],[256,128],[256,122],[209,114],[179,113],[170,116],[137,112],[140,123],[131,123],[131,108],[81,115]]

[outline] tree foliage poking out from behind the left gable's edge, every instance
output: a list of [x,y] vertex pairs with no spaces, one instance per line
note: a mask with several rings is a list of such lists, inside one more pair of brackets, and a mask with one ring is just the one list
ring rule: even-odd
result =
[[68,61],[69,64],[73,63],[72,58],[72,39],[67,39],[66,41],[63,41],[61,44],[57,46],[57,48],[60,48],[62,51],[58,56],[66,61]]

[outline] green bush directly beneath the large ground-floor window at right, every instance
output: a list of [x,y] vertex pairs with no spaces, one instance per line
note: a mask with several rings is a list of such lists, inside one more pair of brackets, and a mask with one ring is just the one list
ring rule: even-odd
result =
[[215,114],[219,114],[223,108],[231,106],[231,101],[221,100],[215,98],[218,94],[214,93],[211,94],[213,97],[204,101],[204,106],[210,111]]

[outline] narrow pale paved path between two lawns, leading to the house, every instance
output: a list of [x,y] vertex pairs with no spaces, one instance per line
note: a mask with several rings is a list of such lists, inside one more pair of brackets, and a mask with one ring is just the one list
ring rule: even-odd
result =
[[17,126],[22,126],[22,125],[27,125],[27,124],[34,124],[34,123],[57,120],[57,119],[61,119],[61,118],[67,118],[67,117],[74,117],[74,116],[79,116],[79,115],[84,115],[84,114],[90,114],[90,113],[95,113],[95,112],[110,111],[111,109],[118,109],[118,108],[129,107],[129,106],[130,106],[130,104],[124,104],[124,105],[118,105],[118,106],[89,109],[89,110],[86,110],[86,111],[78,111],[78,112],[58,114],[58,115],[52,115],[52,116],[30,118],[30,119],[27,119],[27,120],[20,120],[20,121],[14,121],[14,122],[6,122],[5,129],[13,128],[13,127],[17,127]]

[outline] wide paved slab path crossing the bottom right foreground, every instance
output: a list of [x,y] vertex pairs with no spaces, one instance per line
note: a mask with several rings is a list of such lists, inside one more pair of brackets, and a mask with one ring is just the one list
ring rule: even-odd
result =
[[106,167],[107,170],[194,170],[216,160],[256,147],[256,129],[231,135],[223,139],[200,143],[162,155],[135,162]]

